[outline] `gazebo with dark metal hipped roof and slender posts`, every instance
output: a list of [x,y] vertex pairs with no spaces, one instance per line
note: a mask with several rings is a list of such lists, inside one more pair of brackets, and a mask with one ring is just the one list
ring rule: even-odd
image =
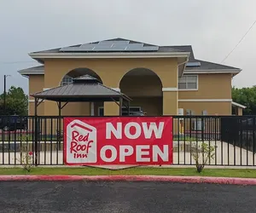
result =
[[[59,109],[57,127],[58,142],[61,142],[61,109],[69,102],[114,101],[119,105],[119,116],[125,106],[130,115],[130,101],[127,95],[108,88],[90,75],[73,78],[73,83],[48,89],[31,95],[35,99],[35,162],[38,164],[38,106],[44,101],[55,101]],[[64,103],[62,105],[62,103]]]

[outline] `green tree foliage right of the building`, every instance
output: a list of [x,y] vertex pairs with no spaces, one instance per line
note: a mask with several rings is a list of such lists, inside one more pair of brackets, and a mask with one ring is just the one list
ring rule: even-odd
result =
[[245,115],[256,115],[256,87],[232,88],[232,100],[246,106]]

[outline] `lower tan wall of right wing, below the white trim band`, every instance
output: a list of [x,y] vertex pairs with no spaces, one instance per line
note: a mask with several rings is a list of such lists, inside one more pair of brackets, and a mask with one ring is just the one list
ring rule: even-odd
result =
[[179,108],[184,109],[184,115],[186,113],[186,110],[192,110],[195,115],[202,115],[202,111],[207,110],[208,115],[231,115],[232,113],[232,106],[231,101],[226,102],[201,102],[201,101],[195,101],[195,102],[179,102],[178,103]]

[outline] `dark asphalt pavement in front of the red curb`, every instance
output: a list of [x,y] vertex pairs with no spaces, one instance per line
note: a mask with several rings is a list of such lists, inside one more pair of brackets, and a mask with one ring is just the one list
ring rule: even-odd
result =
[[170,182],[1,181],[1,212],[256,212],[256,187]]

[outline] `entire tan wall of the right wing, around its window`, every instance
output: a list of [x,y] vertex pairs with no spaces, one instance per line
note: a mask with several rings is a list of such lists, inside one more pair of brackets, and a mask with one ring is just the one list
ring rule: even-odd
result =
[[[184,114],[186,110],[192,110],[195,115],[202,115],[202,112],[206,110],[208,115],[231,115],[231,79],[229,73],[199,74],[198,90],[180,90],[178,92],[178,100],[180,100],[178,108],[183,108]],[[200,99],[202,100],[200,101]],[[203,99],[207,99],[207,101]],[[223,99],[223,101],[211,101],[211,99]]]

